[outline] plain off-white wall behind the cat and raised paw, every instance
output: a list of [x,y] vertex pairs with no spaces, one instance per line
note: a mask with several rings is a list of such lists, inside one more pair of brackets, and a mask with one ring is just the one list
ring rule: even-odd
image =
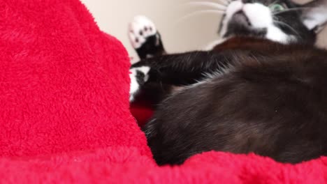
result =
[[[208,7],[187,5],[191,0],[81,0],[94,15],[101,30],[122,41],[130,56],[136,52],[129,44],[128,23],[136,15],[146,15],[157,25],[168,52],[185,52],[203,49],[217,40],[220,16],[212,13],[195,15],[181,20],[195,10]],[[198,0],[201,1],[201,0]],[[210,1],[210,0],[208,0]],[[298,0],[307,1],[307,0]],[[215,1],[218,2],[218,1]],[[212,9],[212,8],[211,8]],[[327,30],[322,34],[327,38]],[[327,45],[327,39],[320,39],[319,45]]]

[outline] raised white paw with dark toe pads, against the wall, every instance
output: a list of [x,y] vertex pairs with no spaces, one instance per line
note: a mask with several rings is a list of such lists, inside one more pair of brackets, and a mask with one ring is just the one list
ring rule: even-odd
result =
[[147,41],[147,38],[149,36],[154,36],[156,33],[156,26],[145,16],[136,16],[129,24],[129,40],[134,49],[142,47]]

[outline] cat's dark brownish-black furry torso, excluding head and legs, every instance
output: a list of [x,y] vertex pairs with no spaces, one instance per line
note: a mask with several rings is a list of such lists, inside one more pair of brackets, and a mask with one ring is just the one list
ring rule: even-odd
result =
[[158,164],[212,150],[291,163],[327,155],[327,52],[257,42],[269,52],[223,53],[232,66],[224,74],[161,103],[143,128]]

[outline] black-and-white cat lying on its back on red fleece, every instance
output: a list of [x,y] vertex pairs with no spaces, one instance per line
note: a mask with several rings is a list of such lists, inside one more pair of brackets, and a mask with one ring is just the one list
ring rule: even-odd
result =
[[[138,19],[145,31],[150,21]],[[163,54],[162,42],[152,42],[157,50],[131,66],[130,100],[150,83],[180,86],[143,128],[157,164],[182,164],[205,151],[288,163],[327,155],[327,51],[314,47],[326,22],[323,0],[234,0],[221,20],[225,41],[211,51]],[[140,36],[135,28],[132,43]],[[151,30],[137,51],[160,38]]]

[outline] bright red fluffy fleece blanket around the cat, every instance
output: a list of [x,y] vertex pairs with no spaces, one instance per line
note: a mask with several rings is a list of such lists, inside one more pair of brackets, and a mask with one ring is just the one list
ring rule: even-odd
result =
[[158,167],[129,112],[126,50],[80,1],[0,0],[0,16],[0,183],[327,182],[327,158]]

